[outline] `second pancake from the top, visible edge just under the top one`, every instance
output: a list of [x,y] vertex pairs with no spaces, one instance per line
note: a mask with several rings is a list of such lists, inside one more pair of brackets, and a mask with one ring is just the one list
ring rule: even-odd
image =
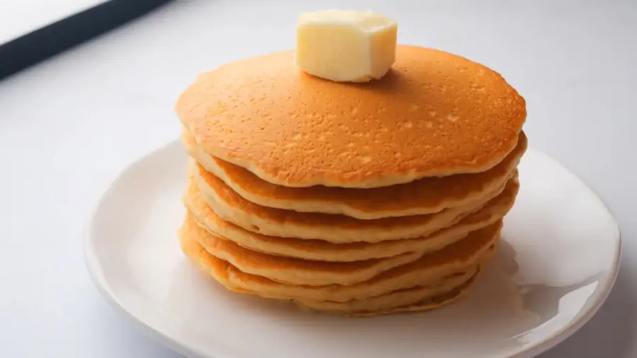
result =
[[515,149],[498,165],[483,173],[423,178],[411,183],[374,189],[352,189],[320,185],[275,185],[245,168],[206,154],[185,130],[182,133],[182,142],[188,154],[206,171],[216,175],[250,202],[263,207],[343,214],[356,219],[432,214],[449,207],[471,204],[486,193],[502,187],[527,149],[527,137],[521,132]]

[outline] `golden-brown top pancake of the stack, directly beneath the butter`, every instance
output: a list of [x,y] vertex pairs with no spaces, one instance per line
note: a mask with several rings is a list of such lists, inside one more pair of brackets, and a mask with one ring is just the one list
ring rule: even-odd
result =
[[208,154],[289,187],[381,187],[478,173],[517,144],[524,99],[500,74],[400,45],[379,81],[335,83],[277,52],[202,74],[176,111]]

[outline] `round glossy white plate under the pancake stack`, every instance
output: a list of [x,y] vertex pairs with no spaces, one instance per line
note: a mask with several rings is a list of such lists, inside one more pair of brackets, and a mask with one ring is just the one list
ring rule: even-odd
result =
[[232,294],[191,267],[176,231],[186,184],[177,142],[127,168],[86,231],[105,298],[190,357],[532,357],[578,330],[606,299],[619,228],[592,190],[529,149],[499,260],[468,296],[437,311],[337,318]]

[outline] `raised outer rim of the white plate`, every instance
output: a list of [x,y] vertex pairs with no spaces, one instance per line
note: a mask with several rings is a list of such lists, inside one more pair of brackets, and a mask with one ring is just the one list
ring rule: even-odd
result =
[[[171,142],[168,142],[167,144],[164,144],[163,146],[159,146],[156,149],[148,151],[146,154],[142,156],[138,156],[137,158],[134,158],[134,160],[128,162],[127,165],[123,166],[120,169],[120,171],[117,172],[117,175],[115,175],[115,178],[113,178],[113,180],[110,180],[110,183],[108,184],[108,186],[104,190],[102,190],[102,192],[98,195],[96,202],[93,203],[91,210],[89,210],[88,212],[88,219],[86,219],[86,222],[84,224],[84,229],[82,232],[82,236],[83,236],[82,251],[84,254],[84,264],[86,266],[86,270],[88,271],[88,276],[91,278],[93,285],[96,287],[96,289],[98,290],[102,298],[106,302],[108,302],[108,304],[112,308],[114,308],[115,311],[118,311],[120,314],[122,314],[122,316],[125,316],[129,322],[135,323],[135,325],[139,327],[139,330],[142,333],[144,333],[144,335],[146,335],[147,337],[150,337],[152,340],[159,342],[161,345],[164,345],[165,347],[168,347],[169,349],[179,354],[183,354],[185,357],[190,357],[190,358],[248,358],[248,357],[236,357],[234,354],[229,354],[227,352],[214,352],[214,354],[211,356],[207,352],[200,352],[199,350],[196,350],[195,348],[190,347],[189,345],[186,345],[184,342],[176,339],[175,337],[165,332],[161,332],[161,330],[155,328],[153,325],[150,325],[149,323],[143,321],[142,318],[140,318],[138,315],[134,314],[132,311],[127,309],[120,302],[120,300],[117,299],[117,295],[113,292],[113,289],[111,289],[107,283],[105,275],[103,274],[102,266],[100,265],[100,260],[98,259],[98,256],[96,254],[96,249],[94,247],[94,241],[93,241],[94,236],[91,234],[91,231],[94,226],[96,214],[99,212],[99,209],[101,208],[101,204],[103,202],[103,198],[105,197],[105,195],[107,195],[108,192],[110,192],[110,190],[113,189],[113,185],[115,183],[122,180],[123,175],[125,175],[126,171],[129,168],[132,168],[138,163],[141,163],[145,159],[151,156],[154,156],[155,154],[158,154],[161,151],[170,149],[171,146],[178,146],[178,143],[179,143],[178,140],[173,140]],[[599,201],[599,203],[602,204],[602,207],[609,214],[610,219],[612,219],[612,225],[614,226],[613,236],[615,238],[614,241],[616,242],[616,248],[615,248],[614,258],[612,262],[612,268],[611,268],[611,271],[609,272],[609,275],[607,276],[608,279],[605,280],[606,282],[604,286],[600,288],[597,296],[593,297],[594,298],[593,304],[590,306],[590,308],[588,308],[587,311],[585,311],[577,319],[571,320],[568,322],[568,324],[563,325],[560,329],[558,329],[552,335],[546,336],[543,339],[538,340],[538,342],[536,342],[534,345],[531,345],[530,347],[522,348],[520,350],[513,352],[507,357],[501,357],[501,358],[535,357],[538,354],[541,354],[543,352],[546,352],[547,350],[550,350],[551,348],[555,347],[559,343],[563,342],[563,340],[566,340],[566,338],[575,334],[578,330],[580,330],[580,328],[582,328],[585,325],[585,323],[590,321],[590,319],[593,316],[595,316],[595,314],[599,311],[599,308],[601,308],[604,302],[608,299],[608,296],[611,293],[614,287],[614,284],[616,282],[617,276],[619,275],[619,268],[621,266],[621,252],[622,252],[621,228],[619,226],[619,221],[617,220],[616,215],[614,214],[612,209],[610,209],[610,207],[607,205],[607,203],[604,201],[601,195],[599,195],[599,193],[595,189],[593,189],[593,187],[589,185],[589,183],[587,183],[586,180],[584,180],[580,175],[578,175],[578,173],[575,173],[574,171],[572,171],[568,166],[565,166],[563,163],[561,163],[561,161],[558,161],[556,158],[553,158],[549,154],[544,153],[544,151],[536,149],[534,146],[529,146],[529,148],[527,149],[527,153],[528,152],[532,152],[533,154],[544,157],[545,160],[553,161],[553,163],[557,164],[558,166],[561,166],[570,175],[573,175],[574,178],[579,180],[580,183],[582,183],[587,188],[590,194],[592,194]],[[524,159],[524,156],[522,157],[522,159]]]

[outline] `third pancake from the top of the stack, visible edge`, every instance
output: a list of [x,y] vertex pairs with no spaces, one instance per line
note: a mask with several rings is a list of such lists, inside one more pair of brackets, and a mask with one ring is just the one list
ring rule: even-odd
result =
[[332,243],[399,240],[427,236],[452,226],[464,216],[477,212],[489,200],[500,195],[504,185],[480,200],[463,207],[445,209],[435,214],[358,220],[338,214],[294,212],[262,207],[236,194],[223,180],[196,163],[192,175],[207,204],[225,221],[248,231],[282,238],[302,238]]

